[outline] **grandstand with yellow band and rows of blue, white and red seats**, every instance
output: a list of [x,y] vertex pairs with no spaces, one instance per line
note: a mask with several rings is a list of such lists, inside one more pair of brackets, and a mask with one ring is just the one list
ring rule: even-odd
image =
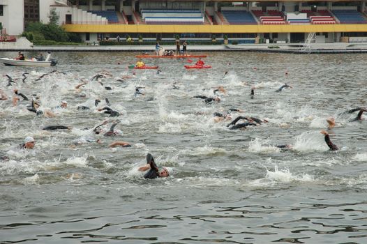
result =
[[[34,21],[26,15],[8,14],[15,8],[23,9],[22,2],[2,3],[0,22],[13,35],[24,31],[25,22]],[[223,41],[227,36],[230,42],[239,43],[299,43],[308,33],[324,36],[316,40],[329,43],[345,37],[367,37],[366,1],[44,0],[32,4],[39,8],[40,21],[47,22],[54,8],[66,31],[92,43],[117,36],[122,40],[126,36],[133,40],[139,36],[144,40],[174,40],[181,33],[193,33],[200,40],[211,40],[215,35]]]

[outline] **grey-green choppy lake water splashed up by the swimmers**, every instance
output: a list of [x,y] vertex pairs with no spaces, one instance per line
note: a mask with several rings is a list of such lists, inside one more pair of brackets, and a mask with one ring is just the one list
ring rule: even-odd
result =
[[[6,86],[1,77],[10,98],[17,87],[56,114],[0,101],[0,243],[366,243],[367,121],[343,114],[367,106],[366,54],[215,52],[204,59],[213,68],[202,70],[186,70],[184,59],[144,59],[160,74],[129,70],[135,54],[57,52],[55,68],[0,66],[19,78]],[[112,75],[103,85],[75,89],[101,70]],[[275,92],[285,83],[293,88]],[[134,95],[137,86],[144,96]],[[217,93],[220,102],[193,98],[214,96],[216,86],[227,90]],[[98,98],[121,116],[98,112]],[[67,109],[55,108],[61,100]],[[214,123],[214,112],[230,108],[244,110],[233,119],[269,123],[246,130]],[[119,135],[91,132],[105,119],[121,121]],[[42,130],[47,125],[71,129]],[[329,151],[321,130],[340,150]],[[33,150],[17,148],[26,136],[36,139]],[[74,146],[81,139],[103,143]],[[117,140],[132,146],[108,147]],[[147,153],[171,176],[144,179],[137,167]]]

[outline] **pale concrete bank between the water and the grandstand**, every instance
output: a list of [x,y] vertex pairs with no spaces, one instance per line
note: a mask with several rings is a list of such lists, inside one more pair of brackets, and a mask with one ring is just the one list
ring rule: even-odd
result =
[[[367,43],[311,43],[302,49],[304,43],[288,44],[239,44],[239,45],[188,45],[188,52],[269,52],[292,54],[344,54],[367,53]],[[175,50],[174,45],[164,46]],[[77,46],[31,46],[8,47],[0,52],[155,52],[151,45],[77,45]]]

